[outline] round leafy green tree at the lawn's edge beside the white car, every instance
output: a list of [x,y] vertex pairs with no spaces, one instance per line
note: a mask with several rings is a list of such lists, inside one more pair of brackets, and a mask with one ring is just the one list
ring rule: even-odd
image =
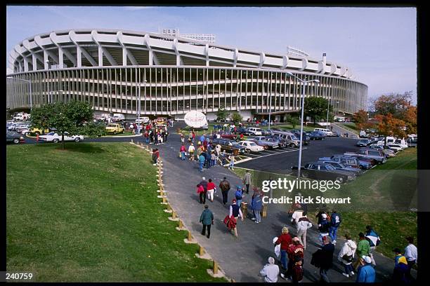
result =
[[32,109],[32,126],[56,128],[65,149],[64,132],[70,135],[84,134],[89,137],[103,135],[103,126],[93,122],[93,109],[86,102],[55,102]]

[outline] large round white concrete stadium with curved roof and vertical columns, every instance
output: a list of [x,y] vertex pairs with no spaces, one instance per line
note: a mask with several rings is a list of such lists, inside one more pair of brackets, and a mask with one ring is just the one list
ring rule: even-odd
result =
[[[325,97],[337,114],[366,109],[367,86],[344,64],[274,54],[150,32],[72,29],[39,34],[8,57],[6,108],[82,100],[95,113],[127,119],[169,116],[190,110],[208,120],[224,108],[243,118],[281,116],[306,97]],[[318,80],[306,86],[301,80]]]

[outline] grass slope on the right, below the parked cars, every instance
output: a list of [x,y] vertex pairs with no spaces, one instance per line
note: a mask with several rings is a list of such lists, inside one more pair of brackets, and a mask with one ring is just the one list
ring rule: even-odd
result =
[[[235,172],[243,177],[245,170],[235,168]],[[261,186],[261,181],[272,176],[273,179],[295,177],[271,174],[270,172],[252,171],[254,184]],[[382,243],[378,251],[391,257],[394,247],[403,249],[407,245],[406,236],[417,239],[417,149],[408,148],[396,157],[390,158],[383,165],[377,165],[355,181],[344,184],[339,190],[325,193],[318,191],[303,191],[304,196],[324,196],[326,198],[351,197],[351,204],[327,204],[329,210],[333,207],[340,212],[343,222],[339,228],[339,235],[351,233],[358,239],[358,233],[365,231],[365,226],[374,226],[381,237]],[[273,196],[292,196],[285,190],[274,190]],[[313,205],[313,210],[318,205]],[[309,206],[312,209],[312,206]],[[311,216],[309,216],[311,217]],[[416,245],[416,244],[415,244]]]

